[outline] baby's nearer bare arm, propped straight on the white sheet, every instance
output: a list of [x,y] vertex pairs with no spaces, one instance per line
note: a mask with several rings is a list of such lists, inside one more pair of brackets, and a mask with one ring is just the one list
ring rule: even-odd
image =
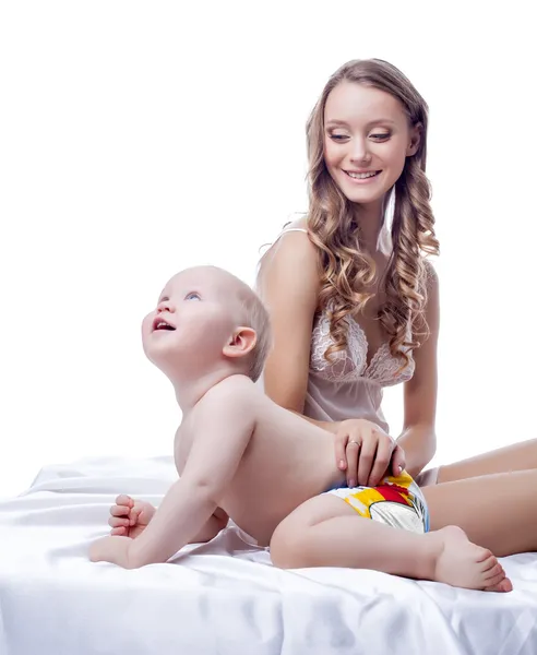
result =
[[165,562],[202,528],[210,527],[207,521],[215,519],[218,500],[253,432],[252,393],[256,390],[250,381],[235,377],[207,393],[182,476],[166,493],[151,523],[134,540],[106,537],[96,541],[90,553],[92,561],[111,561],[129,569]]

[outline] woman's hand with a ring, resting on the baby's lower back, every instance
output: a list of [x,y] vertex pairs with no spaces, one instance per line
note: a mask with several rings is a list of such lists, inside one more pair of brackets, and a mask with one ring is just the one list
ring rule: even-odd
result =
[[405,451],[378,425],[363,418],[341,422],[335,433],[337,467],[347,472],[347,485],[375,487],[389,473],[405,468]]

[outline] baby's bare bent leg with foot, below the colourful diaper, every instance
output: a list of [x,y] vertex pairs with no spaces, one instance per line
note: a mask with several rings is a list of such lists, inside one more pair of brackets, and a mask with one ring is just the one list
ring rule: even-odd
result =
[[373,569],[473,590],[512,590],[490,550],[468,541],[458,527],[426,534],[398,529],[358,515],[332,495],[306,501],[278,525],[271,557],[283,569]]

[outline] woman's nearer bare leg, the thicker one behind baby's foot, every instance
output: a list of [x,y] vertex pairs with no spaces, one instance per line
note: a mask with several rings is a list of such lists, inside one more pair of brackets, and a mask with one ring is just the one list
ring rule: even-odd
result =
[[503,557],[537,550],[537,468],[422,487],[431,529],[458,525]]

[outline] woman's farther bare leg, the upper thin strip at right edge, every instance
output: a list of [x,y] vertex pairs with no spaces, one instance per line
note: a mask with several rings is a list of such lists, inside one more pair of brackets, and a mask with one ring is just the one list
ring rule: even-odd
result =
[[484,455],[441,466],[438,483],[451,483],[480,475],[537,468],[537,439],[501,448]]

